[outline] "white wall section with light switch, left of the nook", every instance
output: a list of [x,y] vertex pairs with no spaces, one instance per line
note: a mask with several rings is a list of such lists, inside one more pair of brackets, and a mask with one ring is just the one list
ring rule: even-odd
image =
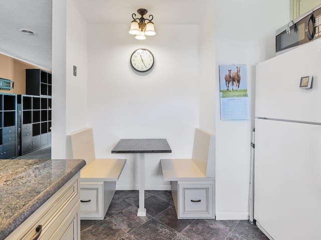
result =
[[53,1],[52,31],[51,155],[55,159],[66,158],[66,134],[87,125],[87,23],[71,0]]

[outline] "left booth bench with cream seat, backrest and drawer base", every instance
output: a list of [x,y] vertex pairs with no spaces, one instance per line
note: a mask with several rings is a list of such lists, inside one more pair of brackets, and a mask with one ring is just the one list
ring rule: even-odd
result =
[[84,159],[80,172],[80,218],[104,219],[126,159],[96,159],[92,128],[67,135],[67,156]]

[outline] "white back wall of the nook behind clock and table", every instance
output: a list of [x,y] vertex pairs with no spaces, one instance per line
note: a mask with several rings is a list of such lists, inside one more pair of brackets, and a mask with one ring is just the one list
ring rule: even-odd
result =
[[[143,41],[128,34],[128,27],[89,24],[88,123],[96,157],[127,158],[117,189],[138,189],[133,154],[111,154],[112,147],[121,138],[167,138],[172,153],[145,154],[145,187],[170,189],[159,159],[191,157],[199,125],[198,26],[157,24],[157,34]],[[130,67],[138,47],[154,55],[147,73]]]

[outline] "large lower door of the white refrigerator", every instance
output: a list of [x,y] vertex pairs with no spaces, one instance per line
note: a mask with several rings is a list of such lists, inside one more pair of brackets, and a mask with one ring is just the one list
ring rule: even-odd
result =
[[254,218],[274,240],[321,239],[321,125],[255,119]]

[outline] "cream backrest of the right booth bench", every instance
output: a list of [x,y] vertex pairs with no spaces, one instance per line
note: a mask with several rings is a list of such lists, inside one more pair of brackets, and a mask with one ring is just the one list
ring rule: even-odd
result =
[[215,176],[215,136],[201,128],[195,129],[192,158],[205,176]]

